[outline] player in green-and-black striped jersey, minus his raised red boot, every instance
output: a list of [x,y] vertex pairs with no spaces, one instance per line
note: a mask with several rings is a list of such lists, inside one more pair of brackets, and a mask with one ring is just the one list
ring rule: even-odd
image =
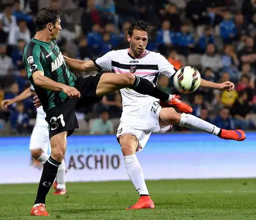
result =
[[46,195],[64,158],[67,136],[79,127],[75,115],[77,108],[100,101],[108,93],[122,88],[131,88],[164,102],[168,102],[172,96],[150,81],[133,74],[99,73],[76,77],[67,68],[55,43],[61,31],[60,14],[52,8],[43,8],[36,15],[35,25],[37,32],[24,48],[23,63],[46,113],[52,151],[44,164],[30,214],[48,216],[45,208]]

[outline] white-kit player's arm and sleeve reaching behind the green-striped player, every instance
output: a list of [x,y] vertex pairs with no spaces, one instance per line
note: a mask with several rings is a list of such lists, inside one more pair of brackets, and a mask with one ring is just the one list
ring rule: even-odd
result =
[[64,57],[66,64],[80,71],[111,71],[111,58],[114,51],[110,51],[96,60],[81,61],[73,58]]

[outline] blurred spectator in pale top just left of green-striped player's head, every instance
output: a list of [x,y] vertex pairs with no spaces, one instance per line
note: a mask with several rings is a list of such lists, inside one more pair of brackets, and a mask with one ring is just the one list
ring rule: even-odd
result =
[[27,28],[25,20],[20,20],[19,26],[11,27],[8,44],[12,46],[17,46],[19,39],[24,40],[26,43],[29,43],[29,41],[31,40],[30,31]]

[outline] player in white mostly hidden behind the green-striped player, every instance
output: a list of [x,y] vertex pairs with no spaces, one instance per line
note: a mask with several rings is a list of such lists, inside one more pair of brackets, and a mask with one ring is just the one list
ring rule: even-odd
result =
[[[26,98],[29,98],[35,94],[35,89],[31,85],[31,87],[24,90],[20,95],[16,96],[12,99],[5,99],[2,101],[2,107],[7,109],[7,107],[15,102],[22,101]],[[49,141],[49,130],[48,130],[48,123],[45,121],[46,114],[43,110],[43,107],[37,108],[37,115],[35,121],[35,127],[33,128],[30,143],[29,143],[29,150],[33,158],[37,159],[41,162],[42,165],[47,161],[49,158],[48,149],[50,150],[50,141]],[[66,164],[63,160],[61,165],[58,167],[58,172],[56,176],[56,182],[54,184],[55,195],[63,195],[66,194],[66,182],[65,182],[65,175],[66,175]]]

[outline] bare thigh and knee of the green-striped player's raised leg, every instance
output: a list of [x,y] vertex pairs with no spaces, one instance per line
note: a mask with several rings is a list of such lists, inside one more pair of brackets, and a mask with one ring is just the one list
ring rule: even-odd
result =
[[103,73],[96,88],[97,96],[105,96],[108,93],[131,87],[134,84],[135,76],[117,73]]

